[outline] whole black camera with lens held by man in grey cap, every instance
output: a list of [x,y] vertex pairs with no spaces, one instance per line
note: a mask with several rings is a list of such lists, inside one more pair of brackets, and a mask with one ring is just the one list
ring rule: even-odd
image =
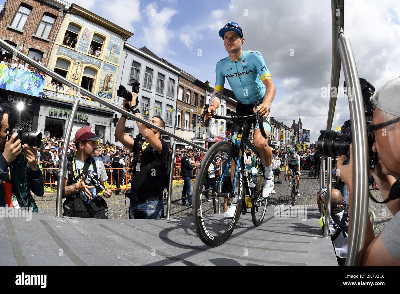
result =
[[[362,91],[362,100],[364,102],[366,127],[368,129],[368,126],[372,124],[372,115],[374,114],[375,110],[371,100],[371,96],[374,94],[375,88],[364,78],[360,78],[360,85]],[[346,89],[346,81],[344,82],[344,89]],[[326,157],[347,155],[348,159],[344,162],[344,164],[348,164],[350,158],[350,144],[352,143],[351,132],[350,134],[338,134],[333,130],[321,130],[320,132],[321,135],[317,141],[317,146],[319,149],[318,154]],[[377,153],[372,151],[373,144],[374,140],[372,139],[372,136],[368,134],[368,162],[371,170],[375,168],[375,164],[378,160]]]

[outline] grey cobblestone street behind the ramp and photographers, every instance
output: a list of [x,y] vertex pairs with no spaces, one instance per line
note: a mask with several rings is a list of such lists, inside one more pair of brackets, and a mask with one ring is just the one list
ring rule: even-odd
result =
[[[282,184],[275,184],[274,189],[276,190],[275,194],[272,194],[269,199],[268,205],[292,205],[290,198],[290,190],[288,189],[289,182],[285,182],[282,176]],[[308,173],[304,172],[304,176],[300,176],[301,186],[300,186],[300,198],[297,198],[297,204],[299,205],[312,205],[316,206],[317,192],[318,192],[318,180],[314,178],[310,178]],[[193,181],[192,181],[192,190],[193,190]],[[174,190],[172,192],[172,200],[178,199],[182,197],[182,188],[183,183],[174,186]],[[370,186],[370,190],[372,195],[377,198],[377,200],[382,201],[382,197],[380,196],[379,191],[372,190]],[[40,213],[46,214],[55,214],[56,212],[56,194],[45,194],[43,196],[43,200],[41,197],[35,197],[36,204],[38,205]],[[129,199],[126,199],[126,209],[129,209]],[[124,195],[113,195],[111,198],[106,199],[108,203],[108,208],[110,208],[110,216],[109,218],[113,219],[125,219],[126,218],[126,209],[124,202]],[[164,200],[166,203],[166,200]],[[186,201],[187,203],[187,201]],[[212,207],[212,202],[204,202],[203,204],[204,210]],[[173,202],[171,205],[171,214],[174,212],[178,212],[184,208],[188,208],[188,204],[186,206],[181,204],[181,201]],[[378,204],[369,202],[369,211],[374,211],[375,213],[375,234],[378,234],[382,228],[384,228],[385,224],[393,217],[390,211],[386,208],[385,204]],[[166,214],[166,205],[164,205],[164,212]],[[250,211],[248,212],[250,213]],[[183,212],[179,212],[175,216],[191,216],[192,210],[188,209]]]

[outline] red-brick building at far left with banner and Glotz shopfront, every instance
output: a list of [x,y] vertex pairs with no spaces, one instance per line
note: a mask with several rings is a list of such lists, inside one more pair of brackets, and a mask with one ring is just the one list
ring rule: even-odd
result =
[[[0,12],[0,37],[15,50],[46,65],[58,27],[64,18],[61,12],[69,7],[70,4],[62,0],[6,1]],[[45,74],[3,48],[0,59],[6,63],[0,64],[0,103],[13,105],[23,102],[25,108],[21,112],[20,123],[24,130],[40,129],[38,120]],[[19,67],[12,67],[14,62]]]

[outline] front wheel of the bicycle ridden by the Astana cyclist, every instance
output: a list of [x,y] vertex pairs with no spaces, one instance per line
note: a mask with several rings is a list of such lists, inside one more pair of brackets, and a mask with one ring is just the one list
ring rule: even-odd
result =
[[[194,227],[196,228],[196,232],[202,240],[204,244],[211,247],[220,246],[223,244],[229,236],[232,234],[236,223],[240,217],[240,212],[242,209],[242,201],[243,201],[243,180],[242,180],[242,166],[239,163],[239,172],[238,172],[238,197],[236,198],[236,202],[233,202],[233,199],[230,200],[231,206],[236,205],[236,209],[232,206],[231,215],[232,218],[226,218],[227,214],[224,214],[221,209],[221,213],[218,213],[220,207],[211,207],[208,208],[207,204],[202,206],[201,194],[204,192],[204,179],[207,176],[208,168],[212,163],[214,158],[217,158],[218,155],[222,155],[228,160],[234,160],[235,166],[238,166],[236,152],[231,143],[222,141],[214,144],[204,156],[199,171],[194,181],[193,187],[193,202],[192,202],[192,215]],[[226,167],[226,161],[222,161],[222,173],[217,179],[217,191],[222,186],[224,190],[222,193],[230,193],[233,195],[234,186],[231,183],[230,172],[235,173],[234,170],[229,172],[229,167],[231,166],[230,162],[228,162],[228,168]],[[235,185],[236,186],[236,185]],[[221,198],[222,201],[224,198]],[[210,203],[210,202],[208,202]],[[218,206],[221,204],[219,202]]]

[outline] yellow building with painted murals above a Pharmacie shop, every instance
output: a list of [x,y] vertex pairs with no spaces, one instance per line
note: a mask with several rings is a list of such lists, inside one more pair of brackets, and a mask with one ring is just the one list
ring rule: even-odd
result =
[[[104,18],[72,4],[64,14],[50,56],[48,68],[76,85],[114,103],[116,78],[124,42],[133,34]],[[44,135],[63,137],[70,109],[80,99],[71,136],[84,126],[111,140],[114,111],[107,106],[80,95],[78,88],[64,85],[46,77],[40,106],[38,127]]]

